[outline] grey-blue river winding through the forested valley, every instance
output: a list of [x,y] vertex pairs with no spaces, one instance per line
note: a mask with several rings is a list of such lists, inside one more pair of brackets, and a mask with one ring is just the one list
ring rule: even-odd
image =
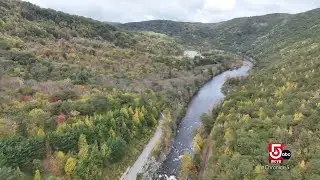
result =
[[212,108],[224,99],[225,95],[221,92],[221,88],[228,78],[247,76],[251,68],[252,63],[244,61],[239,69],[225,71],[215,76],[193,97],[185,117],[178,126],[172,149],[162,167],[158,170],[159,180],[176,179],[181,157],[185,153],[192,154],[192,133],[200,126],[201,115],[210,113]]

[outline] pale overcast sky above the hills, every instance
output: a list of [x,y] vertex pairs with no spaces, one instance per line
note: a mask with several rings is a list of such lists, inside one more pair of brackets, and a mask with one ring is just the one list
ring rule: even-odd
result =
[[27,0],[41,7],[101,21],[166,19],[219,22],[270,13],[299,13],[320,7],[320,0]]

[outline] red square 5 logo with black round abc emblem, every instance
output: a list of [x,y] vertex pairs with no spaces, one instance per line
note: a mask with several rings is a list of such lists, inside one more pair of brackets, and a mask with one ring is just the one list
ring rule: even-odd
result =
[[282,164],[291,157],[291,152],[284,148],[283,143],[269,143],[268,156],[270,164]]

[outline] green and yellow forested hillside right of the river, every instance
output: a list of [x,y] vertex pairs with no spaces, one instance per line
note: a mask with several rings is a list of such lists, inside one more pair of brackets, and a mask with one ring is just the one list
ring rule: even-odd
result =
[[[260,68],[214,110],[205,179],[320,179],[319,17],[318,9],[286,17],[240,46]],[[292,152],[289,170],[262,168],[268,142]]]

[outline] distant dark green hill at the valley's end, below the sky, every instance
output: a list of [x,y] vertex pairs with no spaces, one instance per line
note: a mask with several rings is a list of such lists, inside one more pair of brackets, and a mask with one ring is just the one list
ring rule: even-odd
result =
[[207,50],[223,48],[229,51],[251,46],[258,37],[272,32],[284,21],[287,14],[270,14],[262,17],[236,18],[221,23],[183,23],[165,20],[132,22],[118,25],[124,29],[154,31],[175,37],[182,44]]

